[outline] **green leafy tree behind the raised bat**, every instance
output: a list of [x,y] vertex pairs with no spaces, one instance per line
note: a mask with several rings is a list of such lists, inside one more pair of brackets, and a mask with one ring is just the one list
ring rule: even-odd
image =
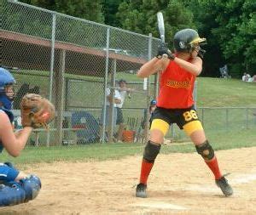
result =
[[172,44],[174,33],[185,27],[195,27],[193,24],[193,14],[183,5],[183,1],[164,0],[131,0],[119,5],[117,17],[121,27],[148,35],[159,37],[157,29],[156,14],[162,11],[166,25],[166,42]]

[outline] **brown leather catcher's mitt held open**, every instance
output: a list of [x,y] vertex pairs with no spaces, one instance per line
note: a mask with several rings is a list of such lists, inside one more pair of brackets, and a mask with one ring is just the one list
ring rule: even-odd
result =
[[55,106],[38,94],[28,93],[21,99],[20,113],[23,127],[47,127],[55,117]]

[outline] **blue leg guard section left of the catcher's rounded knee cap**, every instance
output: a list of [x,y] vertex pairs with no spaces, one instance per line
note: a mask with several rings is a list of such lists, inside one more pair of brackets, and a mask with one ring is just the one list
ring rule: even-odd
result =
[[26,193],[15,181],[0,184],[0,207],[14,206],[25,202]]

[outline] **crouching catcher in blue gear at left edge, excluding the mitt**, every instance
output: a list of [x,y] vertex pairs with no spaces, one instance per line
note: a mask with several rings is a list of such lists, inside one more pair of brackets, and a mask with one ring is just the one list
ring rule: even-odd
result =
[[[10,156],[20,156],[32,127],[14,132],[12,103],[15,78],[9,71],[0,68],[0,154],[5,149]],[[35,175],[17,170],[10,162],[0,163],[0,207],[13,206],[37,197],[41,181]]]

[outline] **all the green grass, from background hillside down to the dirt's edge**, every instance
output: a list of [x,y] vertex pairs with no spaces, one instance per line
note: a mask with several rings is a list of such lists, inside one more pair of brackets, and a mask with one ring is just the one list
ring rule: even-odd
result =
[[[31,71],[30,71],[31,72]],[[24,74],[15,74],[18,82],[30,82],[37,84],[47,94],[49,90],[48,73],[32,71],[32,76]],[[73,98],[73,104],[77,105],[102,105],[102,87],[90,81],[100,81],[99,77],[84,77],[67,75],[72,78],[79,78],[87,82],[80,82],[76,86],[73,83],[69,89],[69,96]],[[137,78],[134,74],[118,73],[117,78],[124,78],[127,82],[143,82],[143,79]],[[256,83],[241,82],[236,79],[219,79],[199,77],[197,82],[197,106],[198,107],[248,107],[249,117],[246,118],[246,110],[229,109],[228,122],[226,110],[205,110],[204,127],[207,133],[207,139],[210,140],[215,150],[228,150],[233,148],[256,146],[255,128],[256,119],[253,113],[256,112]],[[151,82],[154,76],[151,76]],[[143,84],[131,84],[132,88],[142,89]],[[130,87],[129,86],[129,87]],[[90,91],[88,90],[90,88]],[[153,88],[153,87],[152,87]],[[78,91],[79,90],[79,91]],[[78,93],[79,92],[79,93]],[[93,93],[91,93],[93,92]],[[153,91],[152,91],[153,92]],[[86,98],[86,99],[84,99]],[[125,100],[125,107],[144,108],[146,105],[146,96],[143,93],[134,93],[132,99]],[[88,103],[88,101],[90,101]],[[253,109],[254,108],[254,109]],[[202,117],[201,110],[198,115]],[[143,116],[142,110],[124,110],[124,116],[139,117]],[[246,121],[247,120],[247,121]],[[138,122],[139,123],[139,122]],[[228,127],[227,127],[228,125]],[[168,137],[172,134],[168,133]],[[175,128],[174,138],[177,142],[187,142],[189,139]],[[41,138],[42,140],[43,138]],[[12,158],[3,153],[2,161],[13,161],[18,166],[24,163],[52,162],[52,161],[104,161],[108,159],[119,159],[125,156],[134,156],[143,154],[143,144],[89,144],[76,146],[53,146],[53,147],[26,147],[21,156]],[[176,152],[194,152],[193,144],[175,144],[163,145],[161,153]]]

